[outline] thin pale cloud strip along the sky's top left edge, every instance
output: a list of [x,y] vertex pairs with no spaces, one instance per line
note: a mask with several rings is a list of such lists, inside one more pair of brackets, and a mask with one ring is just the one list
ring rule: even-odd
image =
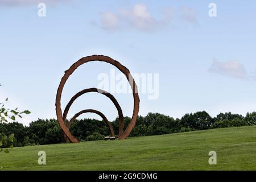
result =
[[33,5],[40,2],[43,3],[58,3],[58,2],[71,2],[72,0],[0,0],[0,6],[24,6]]

